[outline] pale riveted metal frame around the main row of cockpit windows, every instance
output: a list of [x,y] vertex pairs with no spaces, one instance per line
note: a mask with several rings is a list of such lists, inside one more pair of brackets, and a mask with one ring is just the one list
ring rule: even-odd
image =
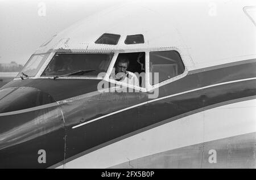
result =
[[[167,80],[164,80],[163,82],[160,82],[158,84],[151,85],[150,84],[150,52],[161,52],[161,51],[168,51],[168,50],[175,50],[176,52],[179,53],[179,55],[181,57],[181,61],[184,64],[184,72],[183,72],[183,74],[177,75],[177,76],[167,79]],[[146,73],[145,88],[137,87],[135,85],[129,85],[129,84],[123,83],[123,82],[118,82],[117,80],[113,80],[113,79],[109,78],[119,53],[138,53],[138,52],[145,53],[145,73]],[[63,76],[63,77],[59,77],[58,79],[100,79],[100,80],[105,80],[107,82],[114,83],[117,85],[122,85],[123,87],[130,87],[133,89],[137,89],[138,91],[141,91],[141,92],[150,92],[156,88],[162,87],[163,85],[166,85],[166,84],[172,83],[176,80],[179,80],[181,78],[184,78],[184,76],[186,76],[188,74],[188,68],[187,68],[186,62],[184,61],[183,54],[181,53],[181,51],[176,47],[166,47],[166,48],[149,48],[149,49],[142,48],[142,49],[104,50],[104,51],[102,51],[102,50],[82,50],[82,51],[79,50],[79,51],[72,51],[72,52],[70,52],[70,51],[67,51],[67,52],[53,51],[48,55],[46,61],[44,62],[42,67],[39,69],[38,73],[34,77],[30,77],[30,79],[39,79],[39,78],[40,79],[49,79],[49,78],[51,78],[50,76],[41,76],[41,75],[43,74],[43,71],[46,69],[49,62],[51,62],[53,56],[56,53],[63,53],[63,54],[64,53],[66,53],[66,54],[70,54],[70,53],[74,53],[74,54],[88,54],[88,53],[109,54],[109,53],[113,53],[113,57],[112,57],[112,60],[110,61],[110,64],[109,64],[108,70],[106,71],[105,77]],[[43,53],[41,53],[41,54],[43,54]],[[15,79],[19,79],[19,78],[15,78]]]

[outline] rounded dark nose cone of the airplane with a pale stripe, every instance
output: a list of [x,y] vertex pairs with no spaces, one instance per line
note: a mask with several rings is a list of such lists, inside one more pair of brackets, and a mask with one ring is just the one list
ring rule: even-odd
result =
[[[32,87],[0,90],[0,169],[47,168],[64,160],[64,119],[57,102]],[[46,152],[39,163],[38,152]]]

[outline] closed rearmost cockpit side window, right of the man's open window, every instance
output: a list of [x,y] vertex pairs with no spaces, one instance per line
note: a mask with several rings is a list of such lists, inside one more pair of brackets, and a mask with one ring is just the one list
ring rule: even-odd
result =
[[180,54],[175,50],[150,52],[150,84],[158,84],[164,80],[183,74],[184,64]]

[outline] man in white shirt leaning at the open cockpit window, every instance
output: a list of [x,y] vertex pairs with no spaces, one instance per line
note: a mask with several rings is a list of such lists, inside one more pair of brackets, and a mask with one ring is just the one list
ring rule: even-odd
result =
[[124,55],[119,55],[117,63],[115,63],[115,80],[131,85],[139,86],[137,76],[130,71],[126,71],[129,67],[129,59]]

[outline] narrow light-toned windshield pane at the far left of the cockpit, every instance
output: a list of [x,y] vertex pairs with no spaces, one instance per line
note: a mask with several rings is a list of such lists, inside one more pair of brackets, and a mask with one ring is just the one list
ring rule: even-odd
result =
[[49,53],[32,55],[16,77],[22,76],[22,72],[29,77],[35,76],[36,73],[38,73],[39,68],[43,65],[44,61],[46,61],[48,55]]

